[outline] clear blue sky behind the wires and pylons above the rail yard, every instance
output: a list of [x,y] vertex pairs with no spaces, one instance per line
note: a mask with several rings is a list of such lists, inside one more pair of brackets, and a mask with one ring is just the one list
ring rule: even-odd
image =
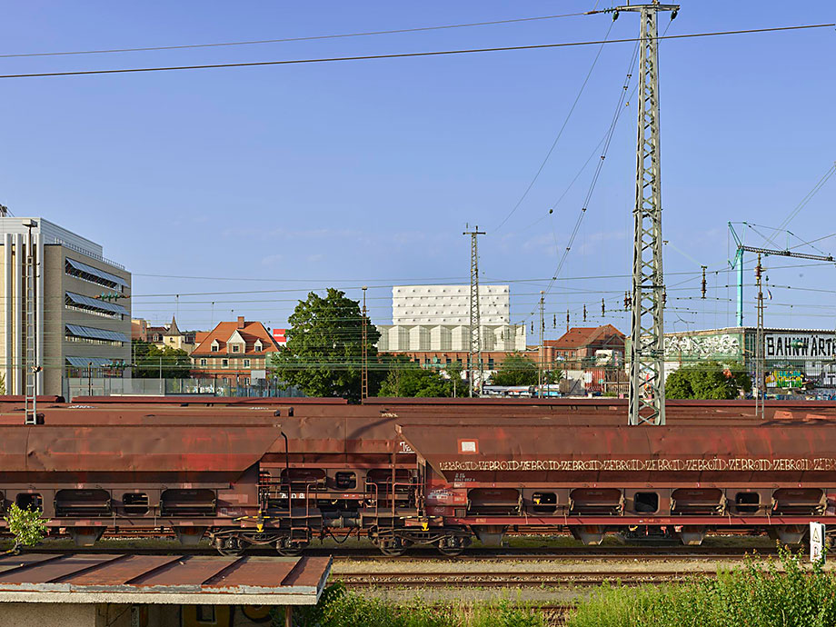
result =
[[[331,35],[594,5],[33,1],[5,7],[0,54]],[[685,0],[669,35],[833,19],[823,0]],[[662,28],[667,23],[663,15]],[[610,25],[609,15],[592,15],[300,43],[0,58],[0,74],[548,44],[597,40]],[[637,16],[622,14],[610,37],[637,31]],[[488,232],[483,280],[513,282],[513,317],[527,319],[566,245],[594,159],[551,216],[548,208],[605,133],[632,47],[603,49],[540,179],[499,230],[597,47],[0,80],[0,202],[104,244],[134,273],[134,314],[163,322],[179,310],[181,328],[239,314],[281,327],[304,291],[337,285],[359,297],[362,284],[381,286],[370,290],[370,302],[373,320],[386,323],[391,284],[467,281],[467,222]],[[670,311],[667,328],[686,328],[680,318],[690,328],[723,325],[734,304],[699,300],[697,274],[673,273],[699,272],[700,264],[722,269],[729,220],[781,223],[836,160],[836,35],[822,28],[672,40],[662,43],[661,57],[669,304],[694,310]],[[565,324],[567,306],[572,323],[583,304],[598,323],[592,314],[600,316],[601,298],[612,310],[629,288],[635,114],[632,99],[562,269],[561,278],[572,280],[558,281],[547,298],[546,311],[560,312],[549,336]],[[834,205],[836,177],[789,228],[806,240],[836,232]],[[836,237],[818,245],[836,253]],[[836,268],[770,265],[767,323],[836,326],[836,294],[810,291],[836,289]],[[598,275],[619,276],[577,278]],[[231,277],[239,280],[224,280]],[[709,295],[733,297],[725,287],[731,279],[710,274]],[[282,291],[152,296],[250,290]],[[605,321],[626,331],[621,312],[608,311]]]

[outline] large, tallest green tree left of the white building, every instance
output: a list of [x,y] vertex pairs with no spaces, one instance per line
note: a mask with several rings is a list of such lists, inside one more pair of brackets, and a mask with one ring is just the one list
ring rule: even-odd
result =
[[[311,292],[288,319],[287,344],[274,353],[276,379],[309,396],[360,398],[363,358],[363,314],[360,304],[328,288],[324,298]],[[368,322],[366,351],[370,388],[380,381],[375,344],[380,333]],[[370,393],[372,393],[370,389]]]

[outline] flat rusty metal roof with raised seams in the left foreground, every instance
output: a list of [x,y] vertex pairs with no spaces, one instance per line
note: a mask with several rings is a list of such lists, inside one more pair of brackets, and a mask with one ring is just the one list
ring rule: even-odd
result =
[[330,557],[5,556],[0,602],[21,595],[26,602],[89,602],[95,594],[96,602],[314,605],[331,564]]

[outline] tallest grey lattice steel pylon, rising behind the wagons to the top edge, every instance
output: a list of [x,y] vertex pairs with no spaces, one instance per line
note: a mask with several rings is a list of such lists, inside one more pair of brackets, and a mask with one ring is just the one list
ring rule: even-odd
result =
[[656,17],[679,5],[619,6],[642,19],[636,204],[633,209],[630,424],[665,423],[662,177],[659,150],[659,50]]

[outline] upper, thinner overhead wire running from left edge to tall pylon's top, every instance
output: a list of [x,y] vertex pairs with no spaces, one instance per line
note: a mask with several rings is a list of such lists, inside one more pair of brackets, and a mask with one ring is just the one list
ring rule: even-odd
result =
[[137,48],[105,48],[101,50],[70,50],[61,52],[45,52],[45,53],[15,53],[12,55],[0,55],[0,59],[12,59],[28,56],[67,56],[67,55],[108,55],[113,53],[132,53],[132,52],[154,52],[161,50],[188,50],[194,48],[218,48],[224,46],[237,45],[263,45],[263,44],[285,44],[290,42],[308,42],[318,41],[322,39],[345,39],[349,37],[368,37],[373,35],[398,35],[403,33],[422,33],[425,31],[447,30],[452,28],[469,28],[472,26],[492,26],[503,24],[519,24],[522,22],[536,22],[539,20],[553,20],[562,17],[575,17],[578,15],[589,15],[587,12],[582,13],[565,13],[562,15],[538,15],[535,17],[517,17],[508,20],[493,20],[491,22],[471,22],[467,24],[450,24],[440,26],[420,26],[416,28],[395,28],[388,31],[365,31],[360,33],[341,33],[337,35],[309,35],[305,37],[284,37],[283,39],[254,39],[237,42],[220,42],[214,44],[185,44],[185,45],[150,45]]

